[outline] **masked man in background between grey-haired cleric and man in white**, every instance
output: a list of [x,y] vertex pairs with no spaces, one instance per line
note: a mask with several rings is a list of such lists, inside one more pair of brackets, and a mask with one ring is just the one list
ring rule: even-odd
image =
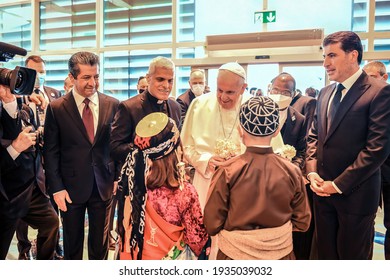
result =
[[188,107],[190,106],[192,100],[196,97],[202,95],[205,91],[206,86],[206,76],[204,70],[194,69],[191,71],[190,80],[190,89],[185,93],[180,95],[176,101],[180,104],[181,107],[181,123],[184,123],[184,118],[187,114]]

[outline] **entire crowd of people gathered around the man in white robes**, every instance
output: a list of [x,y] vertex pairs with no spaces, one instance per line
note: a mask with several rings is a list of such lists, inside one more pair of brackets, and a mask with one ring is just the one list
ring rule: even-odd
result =
[[229,62],[216,92],[193,69],[176,100],[175,64],[158,56],[122,102],[99,91],[91,52],[70,57],[63,96],[28,57],[34,92],[0,85],[0,259],[15,233],[19,259],[83,259],[88,215],[91,260],[368,260],[379,206],[390,259],[386,67],[360,68],[354,32],[328,35],[323,54],[320,91],[282,72],[251,94]]

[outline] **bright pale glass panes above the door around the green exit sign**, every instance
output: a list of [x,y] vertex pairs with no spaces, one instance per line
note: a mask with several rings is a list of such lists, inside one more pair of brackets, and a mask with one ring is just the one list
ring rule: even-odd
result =
[[[325,34],[329,34],[351,29],[351,1],[267,2],[268,10],[276,11],[276,22],[268,23],[267,31],[324,28]],[[203,41],[207,35],[265,31],[262,23],[254,23],[254,12],[260,10],[263,10],[263,1],[259,0],[196,0],[195,40]]]

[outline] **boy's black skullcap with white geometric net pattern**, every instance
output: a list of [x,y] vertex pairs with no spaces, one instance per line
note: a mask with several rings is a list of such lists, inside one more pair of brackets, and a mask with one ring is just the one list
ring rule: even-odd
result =
[[241,105],[240,123],[251,135],[270,135],[279,127],[278,105],[269,97],[252,97]]

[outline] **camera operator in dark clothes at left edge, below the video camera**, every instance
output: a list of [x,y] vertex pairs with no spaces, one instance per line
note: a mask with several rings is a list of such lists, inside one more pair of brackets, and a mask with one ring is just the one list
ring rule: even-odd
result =
[[[0,100],[0,259],[7,256],[19,219],[38,229],[37,259],[53,259],[59,222],[37,182],[37,134],[31,114],[18,110],[9,87],[0,85]],[[42,96],[32,94],[30,100],[46,106]]]

